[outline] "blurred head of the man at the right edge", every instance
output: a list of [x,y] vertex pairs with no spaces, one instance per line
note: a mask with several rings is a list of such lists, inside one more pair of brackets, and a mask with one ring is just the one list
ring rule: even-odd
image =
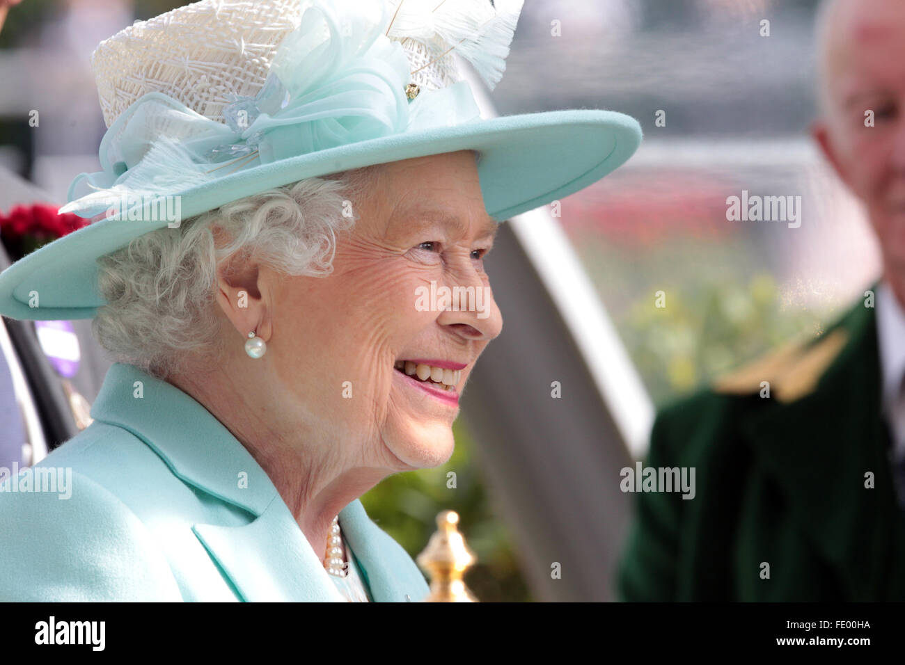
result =
[[905,303],[905,2],[827,0],[814,138],[866,206],[885,278]]

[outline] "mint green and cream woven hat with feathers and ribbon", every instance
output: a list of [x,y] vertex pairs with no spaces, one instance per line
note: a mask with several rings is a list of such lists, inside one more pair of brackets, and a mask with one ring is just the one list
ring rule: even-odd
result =
[[[492,89],[522,0],[203,0],[137,22],[91,58],[102,170],[61,212],[92,220],[0,273],[0,313],[92,318],[101,256],[220,205],[360,166],[473,149],[488,214],[549,204],[641,141],[620,113],[481,119],[456,58]],[[555,84],[556,81],[551,81]]]

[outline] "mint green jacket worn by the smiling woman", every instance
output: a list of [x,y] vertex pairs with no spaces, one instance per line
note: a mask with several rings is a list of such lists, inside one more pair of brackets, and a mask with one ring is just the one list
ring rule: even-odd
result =
[[[0,601],[344,600],[270,478],[192,397],[116,364],[91,417],[24,471],[45,491],[23,491],[23,473],[0,483]],[[358,499],[339,524],[376,602],[424,599]]]

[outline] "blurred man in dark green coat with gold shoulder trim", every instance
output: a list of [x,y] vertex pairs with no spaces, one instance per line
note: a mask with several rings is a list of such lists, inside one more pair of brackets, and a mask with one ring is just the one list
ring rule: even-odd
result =
[[821,10],[814,138],[861,199],[880,284],[821,337],[665,409],[638,494],[625,600],[905,600],[905,2]]

